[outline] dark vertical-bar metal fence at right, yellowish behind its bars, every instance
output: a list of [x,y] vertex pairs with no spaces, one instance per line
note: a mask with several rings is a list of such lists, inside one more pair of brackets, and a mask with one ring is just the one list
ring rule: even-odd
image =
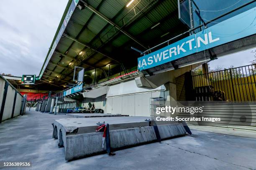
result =
[[256,64],[195,75],[196,101],[256,101]]

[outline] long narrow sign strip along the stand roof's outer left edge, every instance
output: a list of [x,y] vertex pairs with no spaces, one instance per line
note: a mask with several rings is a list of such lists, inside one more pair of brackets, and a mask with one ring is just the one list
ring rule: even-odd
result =
[[69,20],[70,20],[72,14],[73,14],[73,12],[74,12],[74,10],[75,10],[75,8],[76,8],[78,2],[79,2],[79,0],[72,0],[71,4],[70,4],[70,6],[69,6],[69,10],[68,10],[68,12],[67,12],[67,14],[66,14],[66,17],[65,17],[65,19],[64,19],[64,21],[63,21],[63,23],[62,23],[62,25],[61,25],[61,28],[60,28],[60,30],[59,30],[59,33],[58,33],[58,35],[57,35],[57,37],[56,37],[56,39],[55,39],[55,41],[54,41],[54,44],[53,44],[52,47],[51,47],[51,51],[49,52],[49,55],[48,55],[47,58],[46,58],[46,61],[45,61],[44,66],[43,66],[43,69],[42,69],[41,72],[40,72],[40,75],[39,75],[39,78],[40,78],[40,79],[41,79],[41,77],[42,77],[42,75],[43,75],[43,73],[44,73],[44,70],[45,70],[45,68],[46,68],[46,66],[47,66],[47,64],[48,64],[48,62],[49,62],[49,60],[51,59],[51,56],[52,56],[53,53],[54,53],[54,50],[55,50],[55,48],[56,48],[56,46],[57,46],[57,44],[58,44],[58,42],[59,42],[59,40],[60,40],[62,34],[64,33],[64,30],[65,30],[66,27],[67,27],[67,23],[69,22]]

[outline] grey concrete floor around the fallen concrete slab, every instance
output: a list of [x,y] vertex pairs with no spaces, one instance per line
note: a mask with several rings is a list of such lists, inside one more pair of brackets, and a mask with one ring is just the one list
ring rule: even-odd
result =
[[65,115],[27,112],[0,124],[0,161],[29,160],[40,170],[248,170],[256,169],[256,139],[192,130],[184,136],[66,162],[51,138],[55,119]]

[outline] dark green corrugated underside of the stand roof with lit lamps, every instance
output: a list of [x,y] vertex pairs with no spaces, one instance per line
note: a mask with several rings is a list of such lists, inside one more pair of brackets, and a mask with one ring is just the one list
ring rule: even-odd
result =
[[41,69],[42,80],[60,86],[74,83],[74,65],[86,70],[118,62],[134,67],[140,54],[131,47],[143,51],[188,30],[178,19],[177,0],[134,0],[129,7],[130,0],[79,0],[77,5],[83,9],[74,9],[55,52],[49,56],[73,1],[69,0],[61,18],[47,54],[49,62],[45,60],[46,68],[43,65]]

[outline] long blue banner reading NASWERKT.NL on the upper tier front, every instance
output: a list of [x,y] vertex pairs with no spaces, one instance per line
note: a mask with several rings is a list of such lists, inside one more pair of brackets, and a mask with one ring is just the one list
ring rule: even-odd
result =
[[207,50],[256,33],[256,7],[138,58],[138,70]]

